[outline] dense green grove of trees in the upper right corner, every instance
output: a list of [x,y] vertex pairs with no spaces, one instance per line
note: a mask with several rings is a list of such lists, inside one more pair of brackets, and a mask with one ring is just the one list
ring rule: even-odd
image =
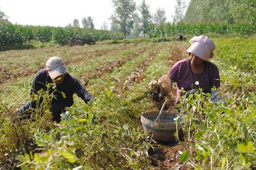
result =
[[188,23],[247,23],[254,26],[254,0],[191,0],[183,22]]

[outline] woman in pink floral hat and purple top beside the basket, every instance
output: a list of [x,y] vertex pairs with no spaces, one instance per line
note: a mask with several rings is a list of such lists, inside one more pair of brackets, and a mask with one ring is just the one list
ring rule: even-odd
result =
[[[202,88],[204,93],[210,93],[211,88],[220,87],[220,75],[218,67],[209,62],[209,58],[213,57],[215,45],[207,36],[201,35],[193,37],[190,41],[191,46],[187,49],[189,58],[180,60],[172,66],[168,73],[169,82],[176,82],[177,98],[182,94],[179,92],[181,88],[185,91],[195,92],[196,89]],[[215,94],[212,94],[212,97]],[[219,98],[213,99],[217,102]]]

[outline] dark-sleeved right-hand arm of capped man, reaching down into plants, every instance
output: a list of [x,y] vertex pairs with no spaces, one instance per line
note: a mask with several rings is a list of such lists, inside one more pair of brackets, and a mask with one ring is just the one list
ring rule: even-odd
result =
[[77,94],[81,99],[84,100],[84,102],[87,104],[91,99],[93,99],[93,96],[88,93],[87,90],[83,88],[83,86],[79,83],[77,79],[75,79],[73,83],[73,89],[74,93]]

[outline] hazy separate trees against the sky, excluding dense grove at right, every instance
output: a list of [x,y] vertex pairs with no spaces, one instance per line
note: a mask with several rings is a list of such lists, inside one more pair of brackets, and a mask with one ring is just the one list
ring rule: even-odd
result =
[[[148,26],[151,23],[161,25],[166,23],[166,11],[164,8],[157,8],[154,14],[149,12],[149,5],[142,0],[139,6],[136,6],[134,0],[112,0],[115,11],[109,18],[111,20],[111,31],[120,31],[127,35],[139,37],[143,34],[145,37],[148,31]],[[179,22],[183,18],[184,9],[186,8],[183,0],[176,0],[175,15],[172,16],[173,23]],[[69,26],[72,26],[71,24]],[[79,27],[79,21],[75,19],[73,26]],[[87,17],[82,19],[82,26],[84,28],[94,28],[93,19]],[[104,22],[101,29],[108,29],[108,23]]]

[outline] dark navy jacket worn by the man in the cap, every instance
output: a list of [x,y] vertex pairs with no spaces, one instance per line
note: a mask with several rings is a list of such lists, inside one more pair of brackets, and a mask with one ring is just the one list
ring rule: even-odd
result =
[[[47,91],[46,85],[48,83],[52,83],[52,79],[47,75],[46,68],[43,68],[40,71],[38,71],[35,75],[30,93],[31,96],[33,93],[37,94],[40,89]],[[54,89],[50,87],[49,94],[51,94],[53,91]],[[66,96],[65,98],[61,92],[64,92]],[[93,99],[93,96],[90,95],[88,91],[83,88],[83,86],[79,83],[76,77],[66,73],[64,81],[61,84],[56,85],[56,91],[54,91],[53,93],[55,98],[52,100],[52,103],[61,102],[65,103],[67,107],[70,107],[74,103],[74,93],[76,93],[81,99],[83,99],[85,103]]]

